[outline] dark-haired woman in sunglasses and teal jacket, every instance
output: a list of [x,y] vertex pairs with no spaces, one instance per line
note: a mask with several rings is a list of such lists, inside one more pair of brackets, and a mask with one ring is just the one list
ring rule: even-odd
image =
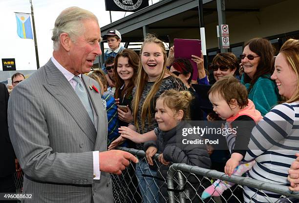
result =
[[274,49],[270,41],[254,38],[245,43],[240,57],[244,69],[241,82],[248,90],[248,99],[264,116],[280,100],[276,83],[270,78],[274,71]]

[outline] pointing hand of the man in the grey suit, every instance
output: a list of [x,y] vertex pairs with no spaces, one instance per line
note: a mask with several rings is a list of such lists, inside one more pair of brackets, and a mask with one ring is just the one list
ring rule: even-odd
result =
[[100,160],[100,171],[104,171],[107,173],[113,173],[120,175],[122,171],[132,161],[134,163],[138,162],[138,159],[125,151],[122,150],[110,150],[106,152],[99,153]]

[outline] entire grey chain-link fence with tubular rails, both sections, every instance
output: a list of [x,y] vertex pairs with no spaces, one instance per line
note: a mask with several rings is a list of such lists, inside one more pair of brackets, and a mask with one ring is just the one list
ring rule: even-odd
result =
[[[152,166],[146,162],[143,150],[126,147],[118,149],[137,156],[139,163],[130,163],[121,175],[111,174],[115,203],[243,203],[242,193],[245,186],[257,188],[258,193],[265,195],[268,192],[280,194],[277,201],[266,199],[269,203],[299,203],[299,192],[291,192],[287,186],[235,175],[229,177],[222,172],[182,163],[164,166],[158,162],[159,154],[153,157],[155,168],[149,170]],[[202,200],[203,190],[216,179],[236,184],[219,197]],[[16,174],[17,192],[22,191],[22,182],[22,174]],[[254,200],[247,202],[254,203]]]

